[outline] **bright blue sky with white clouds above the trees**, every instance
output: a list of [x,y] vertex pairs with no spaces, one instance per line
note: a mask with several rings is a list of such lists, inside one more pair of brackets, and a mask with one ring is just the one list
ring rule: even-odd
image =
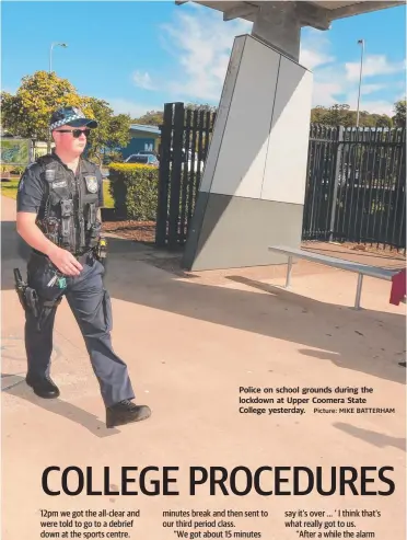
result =
[[[49,69],[81,95],[108,102],[136,118],[166,102],[218,105],[242,19],[194,2],[1,2],[1,90],[15,93],[23,77]],[[329,31],[304,27],[300,64],[313,71],[313,106],[357,106],[361,47],[361,111],[394,114],[406,94],[406,7],[334,21]]]

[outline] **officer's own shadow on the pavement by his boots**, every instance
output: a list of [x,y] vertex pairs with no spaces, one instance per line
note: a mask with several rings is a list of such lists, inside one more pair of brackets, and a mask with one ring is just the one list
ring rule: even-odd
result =
[[77,405],[73,405],[72,403],[61,401],[60,399],[43,400],[42,398],[38,398],[32,392],[31,388],[27,387],[24,377],[13,376],[13,384],[2,391],[19,399],[28,401],[30,403],[33,403],[33,405],[39,406],[49,413],[63,416],[71,422],[75,422],[77,424],[85,427],[93,435],[96,435],[96,437],[105,438],[120,433],[116,428],[107,429],[105,423],[101,422],[97,416],[80,409]]

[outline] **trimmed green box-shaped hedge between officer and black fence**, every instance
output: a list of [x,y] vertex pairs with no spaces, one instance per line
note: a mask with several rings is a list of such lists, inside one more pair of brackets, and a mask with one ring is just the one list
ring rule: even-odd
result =
[[111,163],[108,170],[118,216],[138,221],[155,220],[159,170],[139,163]]

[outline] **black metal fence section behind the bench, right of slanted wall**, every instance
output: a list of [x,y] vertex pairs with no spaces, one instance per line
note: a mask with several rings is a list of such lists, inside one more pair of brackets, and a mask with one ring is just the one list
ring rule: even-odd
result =
[[303,240],[406,248],[406,130],[310,128]]

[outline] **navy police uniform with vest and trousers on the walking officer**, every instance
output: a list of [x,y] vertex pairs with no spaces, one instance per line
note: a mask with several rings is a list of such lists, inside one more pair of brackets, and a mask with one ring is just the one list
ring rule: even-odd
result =
[[[124,403],[119,415],[127,417],[119,423],[143,420],[148,407],[140,414],[140,406],[129,402],[135,393],[127,366],[112,346],[112,305],[103,283],[105,267],[97,256],[97,209],[104,204],[98,168],[81,157],[74,174],[55,152],[42,157],[25,170],[16,204],[18,211],[35,212],[43,233],[70,251],[83,267],[79,276],[66,276],[45,254],[36,250],[31,253],[26,285],[27,290],[34,291],[35,309],[25,309],[27,383],[35,389],[36,381],[50,381],[55,315],[66,297],[83,335],[106,409]],[[56,392],[42,397],[56,397]]]

